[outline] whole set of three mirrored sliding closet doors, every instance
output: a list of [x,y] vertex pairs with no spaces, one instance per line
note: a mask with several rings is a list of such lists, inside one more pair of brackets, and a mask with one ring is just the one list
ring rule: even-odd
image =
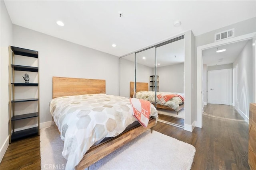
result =
[[184,35],[120,58],[120,96],[150,101],[159,121],[184,128]]

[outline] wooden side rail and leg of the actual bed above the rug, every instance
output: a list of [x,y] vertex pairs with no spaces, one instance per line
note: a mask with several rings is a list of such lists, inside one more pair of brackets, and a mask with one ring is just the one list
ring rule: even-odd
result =
[[94,164],[98,160],[112,153],[114,150],[132,141],[134,138],[138,137],[149,128],[151,129],[151,133],[152,133],[152,127],[155,125],[156,125],[156,119],[150,119],[150,121],[148,122],[148,127],[143,127],[140,125],[121,135],[118,135],[117,137],[114,137],[107,143],[103,143],[98,147],[89,149],[84,155],[84,157],[82,158],[82,160],[79,162],[79,164],[76,166],[76,170],[82,170],[89,167],[90,165]]

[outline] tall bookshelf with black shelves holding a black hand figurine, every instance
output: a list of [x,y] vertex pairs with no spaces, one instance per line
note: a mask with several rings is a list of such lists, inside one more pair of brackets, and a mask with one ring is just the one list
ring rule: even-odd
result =
[[[39,84],[38,83],[25,83],[23,81],[16,82],[15,77],[16,74],[18,74],[19,71],[23,71],[27,74],[27,72],[34,72],[34,75],[37,75],[33,81],[39,82],[39,60],[38,60],[38,51],[35,50],[30,50],[30,49],[24,49],[20,47],[14,47],[14,46],[9,46],[9,67],[10,72],[9,72],[9,84],[10,86],[10,93],[9,93],[9,103],[10,103],[10,108],[9,109],[9,143],[11,141],[20,139],[20,138],[25,138],[30,135],[39,135],[40,134],[40,111],[39,111]],[[16,57],[18,55],[18,57]],[[33,59],[32,59],[32,58]],[[33,62],[32,62],[33,61]],[[19,73],[20,74],[20,73]],[[25,76],[26,76],[25,74]],[[19,75],[20,76],[20,75]],[[33,82],[32,81],[32,82]],[[26,87],[26,88],[24,88]],[[15,88],[17,90],[15,90]],[[33,96],[38,96],[37,98],[29,98],[27,96],[27,91],[28,89],[37,88],[37,91],[32,92]],[[19,96],[23,96],[22,99],[17,99]],[[28,102],[28,103],[24,103]],[[19,114],[17,115],[16,111],[20,111],[16,109],[16,106],[22,106],[22,105],[27,105],[27,106],[38,106],[34,107],[34,111],[28,111],[26,107],[23,109],[24,114]],[[31,113],[33,112],[33,113]],[[33,128],[28,128],[27,122],[25,119],[30,119],[30,120],[36,120],[36,124],[31,122],[31,125]],[[16,127],[16,121],[20,123],[19,127]],[[24,130],[22,131],[15,131],[18,130],[17,128],[22,128]]]

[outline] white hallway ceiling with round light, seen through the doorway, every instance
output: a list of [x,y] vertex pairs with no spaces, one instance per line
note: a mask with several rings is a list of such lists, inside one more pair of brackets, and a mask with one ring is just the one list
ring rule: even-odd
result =
[[218,50],[226,49],[226,51],[221,53],[216,53],[217,47],[205,49],[202,51],[203,64],[207,64],[207,66],[214,66],[234,63],[235,59],[238,57],[247,42],[248,40],[245,40],[218,46]]

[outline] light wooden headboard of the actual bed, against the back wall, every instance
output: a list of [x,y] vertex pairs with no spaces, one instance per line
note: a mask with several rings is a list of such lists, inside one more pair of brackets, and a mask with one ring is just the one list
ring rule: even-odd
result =
[[106,80],[52,77],[52,98],[106,93]]

